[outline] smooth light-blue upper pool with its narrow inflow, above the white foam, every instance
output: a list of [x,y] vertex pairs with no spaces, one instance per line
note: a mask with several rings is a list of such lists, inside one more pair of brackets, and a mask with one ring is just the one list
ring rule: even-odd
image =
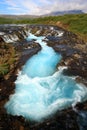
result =
[[54,52],[51,47],[42,41],[45,37],[36,37],[30,34],[27,40],[36,39],[42,50],[34,55],[23,68],[22,73],[26,73],[29,77],[46,77],[52,75],[56,71],[56,65],[61,60],[61,55]]

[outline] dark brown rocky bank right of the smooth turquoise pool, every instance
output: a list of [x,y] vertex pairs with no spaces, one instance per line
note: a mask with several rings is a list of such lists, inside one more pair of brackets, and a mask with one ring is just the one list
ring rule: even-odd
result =
[[81,76],[87,80],[87,43],[71,32],[65,32],[64,37],[54,41],[49,40],[48,45],[62,54],[63,65],[68,66],[66,74]]

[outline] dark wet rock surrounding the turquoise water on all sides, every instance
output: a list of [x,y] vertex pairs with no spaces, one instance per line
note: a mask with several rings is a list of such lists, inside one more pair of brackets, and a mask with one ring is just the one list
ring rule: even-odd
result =
[[37,36],[46,36],[48,46],[62,54],[63,59],[58,66],[68,66],[64,74],[77,76],[76,81],[87,86],[87,43],[78,39],[77,35],[56,26],[0,25],[0,42],[12,44],[18,52],[18,60],[10,76],[0,78],[0,130],[86,130],[87,101],[78,103],[75,110],[68,108],[58,111],[50,119],[40,123],[6,113],[4,104],[9,95],[14,93],[18,71],[28,58],[41,50],[41,46],[34,40],[25,40],[29,30]]

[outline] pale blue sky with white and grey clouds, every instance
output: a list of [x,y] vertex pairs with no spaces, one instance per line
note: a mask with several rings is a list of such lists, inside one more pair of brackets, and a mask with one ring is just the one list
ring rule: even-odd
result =
[[0,14],[43,15],[73,9],[87,13],[87,0],[0,0]]

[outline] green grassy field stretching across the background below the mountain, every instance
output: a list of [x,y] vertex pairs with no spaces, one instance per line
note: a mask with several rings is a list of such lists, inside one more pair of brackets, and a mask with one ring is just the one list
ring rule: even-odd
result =
[[72,31],[87,41],[87,14],[69,14],[39,18],[12,19],[0,17],[0,24],[49,24]]

